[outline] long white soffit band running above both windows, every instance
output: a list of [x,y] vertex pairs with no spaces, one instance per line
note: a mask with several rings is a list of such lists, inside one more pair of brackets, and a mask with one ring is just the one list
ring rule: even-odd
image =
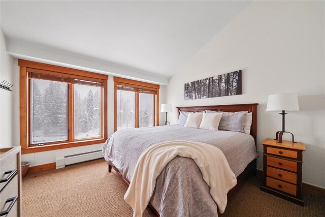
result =
[[137,79],[157,84],[167,84],[168,77],[149,74],[133,68],[112,64],[107,61],[68,52],[45,45],[34,44],[9,38],[7,40],[7,52],[14,58],[37,61],[39,63],[68,67],[88,72],[102,73],[111,76],[119,76],[128,79]]

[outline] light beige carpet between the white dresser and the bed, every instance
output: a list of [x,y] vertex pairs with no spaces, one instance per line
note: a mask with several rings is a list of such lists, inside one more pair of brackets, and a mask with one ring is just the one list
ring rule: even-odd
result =
[[115,171],[108,173],[104,159],[27,174],[23,216],[132,216],[123,199],[126,189]]

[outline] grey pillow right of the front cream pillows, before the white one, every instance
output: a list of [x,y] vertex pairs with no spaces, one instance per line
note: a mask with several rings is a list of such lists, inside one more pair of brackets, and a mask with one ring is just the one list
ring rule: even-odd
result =
[[245,118],[247,111],[223,112],[219,123],[219,130],[245,132]]

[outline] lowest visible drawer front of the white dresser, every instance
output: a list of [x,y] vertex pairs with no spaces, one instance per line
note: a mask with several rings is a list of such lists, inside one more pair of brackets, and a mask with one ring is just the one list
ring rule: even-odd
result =
[[9,211],[9,213],[4,216],[11,217],[11,216],[18,215],[18,200],[17,201],[13,200],[11,202],[6,203],[7,199],[18,197],[17,185],[18,185],[18,175],[15,175],[0,194],[0,198],[1,198],[0,199],[0,210],[1,210],[1,212],[7,210],[8,207],[10,206],[10,204],[13,203],[13,206],[12,206],[11,210]]

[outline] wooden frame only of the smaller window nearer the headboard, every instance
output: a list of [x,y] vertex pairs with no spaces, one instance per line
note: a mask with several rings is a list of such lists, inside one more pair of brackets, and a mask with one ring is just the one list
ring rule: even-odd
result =
[[[154,126],[159,125],[159,85],[114,77],[114,132],[117,131],[117,85],[154,90]],[[139,128],[139,92],[135,92],[135,128]]]

